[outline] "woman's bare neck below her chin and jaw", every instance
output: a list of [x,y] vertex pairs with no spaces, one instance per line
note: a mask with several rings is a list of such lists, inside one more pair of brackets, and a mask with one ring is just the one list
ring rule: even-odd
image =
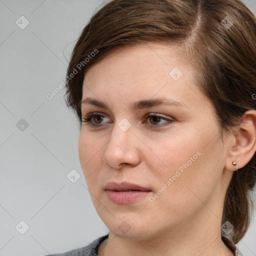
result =
[[[196,236],[195,236],[196,237]],[[195,244],[198,244],[196,246]],[[232,251],[222,242],[221,236],[215,237],[215,239],[207,239],[198,243],[196,241],[189,240],[188,242],[183,240],[182,242],[174,238],[165,239],[157,242],[157,240],[143,240],[139,241],[121,238],[115,236],[109,232],[109,236],[104,240],[98,249],[99,256],[119,256],[121,251],[122,256],[158,256],[158,255],[190,255],[190,256],[234,256]]]

